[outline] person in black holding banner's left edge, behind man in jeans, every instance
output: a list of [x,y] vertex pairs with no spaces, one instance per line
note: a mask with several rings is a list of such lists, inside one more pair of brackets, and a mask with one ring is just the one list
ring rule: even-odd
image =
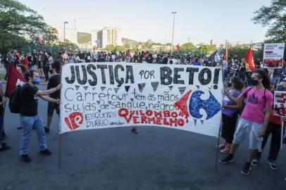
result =
[[[49,78],[49,83],[48,83],[48,87],[47,89],[52,89],[54,87],[57,87],[58,84],[61,83],[61,75],[59,75],[58,73],[60,73],[61,70],[61,61],[55,61],[54,63],[51,63],[51,68],[50,68],[50,73],[51,73],[51,77]],[[55,91],[53,94],[49,95],[52,99],[60,99],[61,97],[61,91]],[[53,118],[53,113],[54,110],[56,110],[56,114],[58,114],[58,117],[60,116],[60,106],[58,105],[58,103],[53,103],[53,102],[49,102],[48,103],[48,119],[46,122],[46,127],[44,127],[45,132],[49,132],[50,131],[50,126],[51,126],[51,120]]]

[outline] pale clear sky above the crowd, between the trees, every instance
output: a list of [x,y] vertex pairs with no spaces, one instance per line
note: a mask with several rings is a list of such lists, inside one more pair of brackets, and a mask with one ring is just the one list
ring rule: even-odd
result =
[[[76,26],[90,33],[102,27],[119,27],[122,37],[140,42],[200,42],[231,44],[261,42],[267,27],[255,25],[251,18],[271,0],[20,0],[44,17],[49,25]],[[74,20],[77,20],[74,23]]]

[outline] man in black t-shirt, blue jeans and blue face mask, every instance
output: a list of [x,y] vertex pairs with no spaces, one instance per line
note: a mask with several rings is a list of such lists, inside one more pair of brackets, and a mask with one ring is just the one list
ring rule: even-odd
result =
[[59,103],[59,100],[47,96],[61,89],[61,84],[49,90],[39,90],[36,84],[39,84],[39,73],[35,70],[29,70],[24,74],[26,84],[20,89],[20,123],[22,126],[22,137],[20,141],[20,158],[25,163],[30,163],[28,156],[28,144],[31,137],[32,128],[36,130],[40,153],[51,155],[51,151],[46,146],[46,137],[44,125],[41,116],[38,114],[38,96],[44,101]]

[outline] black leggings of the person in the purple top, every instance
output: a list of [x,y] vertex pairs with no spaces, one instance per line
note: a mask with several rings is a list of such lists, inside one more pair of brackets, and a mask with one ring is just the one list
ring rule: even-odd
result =
[[237,114],[225,115],[223,114],[223,129],[221,130],[221,137],[225,139],[228,144],[233,141],[233,135],[235,134],[235,127],[237,124]]

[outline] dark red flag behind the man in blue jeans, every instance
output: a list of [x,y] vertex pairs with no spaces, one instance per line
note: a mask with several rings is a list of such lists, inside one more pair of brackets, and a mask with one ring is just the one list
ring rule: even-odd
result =
[[8,67],[8,80],[5,96],[10,97],[12,91],[18,86],[23,86],[25,82],[26,80],[23,75],[10,64]]

